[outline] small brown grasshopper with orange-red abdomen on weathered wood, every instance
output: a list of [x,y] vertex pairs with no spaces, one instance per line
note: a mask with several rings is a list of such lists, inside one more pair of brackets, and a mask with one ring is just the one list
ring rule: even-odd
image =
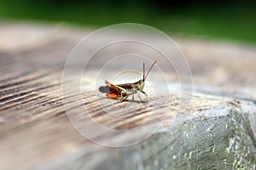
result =
[[[151,65],[151,67],[148,70],[148,73],[149,73],[149,71],[151,71],[151,69],[155,63],[156,63],[156,61],[154,61],[153,65]],[[133,82],[133,83],[125,83],[125,84],[118,84],[118,85],[114,85],[113,83],[110,83],[106,80],[105,83],[107,84],[107,86],[101,86],[99,88],[99,91],[102,93],[106,93],[106,96],[109,99],[120,99],[120,101],[127,99],[130,95],[132,95],[132,101],[133,101],[134,94],[137,94],[139,99],[141,99],[142,102],[145,102],[140,97],[138,92],[145,94],[146,101],[147,101],[148,94],[146,94],[143,91],[143,88],[145,85],[145,80],[148,77],[148,73],[145,76],[145,64],[143,63],[143,79],[141,79],[137,82]]]

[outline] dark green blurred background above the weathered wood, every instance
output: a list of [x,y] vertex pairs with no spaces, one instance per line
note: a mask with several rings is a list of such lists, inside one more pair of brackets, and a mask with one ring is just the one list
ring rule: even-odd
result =
[[172,36],[256,44],[256,1],[251,0],[0,0],[0,20],[94,27],[135,22]]

